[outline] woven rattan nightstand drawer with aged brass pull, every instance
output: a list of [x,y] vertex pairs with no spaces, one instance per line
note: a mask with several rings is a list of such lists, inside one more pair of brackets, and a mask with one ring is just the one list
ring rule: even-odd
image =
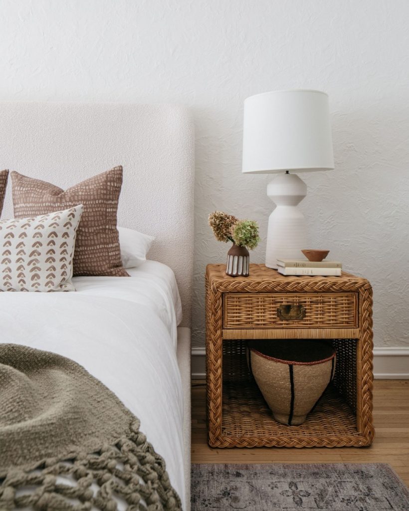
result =
[[223,328],[357,328],[357,293],[226,293]]

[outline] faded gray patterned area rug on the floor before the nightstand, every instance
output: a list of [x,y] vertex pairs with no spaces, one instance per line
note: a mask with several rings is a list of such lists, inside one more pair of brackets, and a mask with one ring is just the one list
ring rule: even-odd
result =
[[409,511],[409,493],[386,463],[194,464],[191,511]]

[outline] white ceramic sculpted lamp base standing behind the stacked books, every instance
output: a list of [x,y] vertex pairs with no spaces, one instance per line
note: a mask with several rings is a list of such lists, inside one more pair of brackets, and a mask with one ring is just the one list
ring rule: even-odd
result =
[[267,195],[277,204],[269,217],[266,266],[277,269],[277,259],[300,259],[307,247],[307,224],[297,205],[307,185],[296,174],[279,174],[267,185]]

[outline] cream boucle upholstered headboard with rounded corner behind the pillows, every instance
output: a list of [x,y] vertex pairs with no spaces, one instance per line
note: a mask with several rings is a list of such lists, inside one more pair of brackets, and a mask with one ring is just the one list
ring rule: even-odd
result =
[[[0,170],[68,188],[124,167],[118,225],[156,237],[149,259],[170,266],[191,321],[194,126],[169,104],[0,103]],[[2,218],[12,218],[9,181]]]

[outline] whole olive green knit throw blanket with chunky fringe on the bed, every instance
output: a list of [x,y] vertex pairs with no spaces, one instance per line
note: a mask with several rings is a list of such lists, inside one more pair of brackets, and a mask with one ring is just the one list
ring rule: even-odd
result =
[[181,509],[138,419],[72,360],[0,344],[0,509],[115,511],[118,500]]

